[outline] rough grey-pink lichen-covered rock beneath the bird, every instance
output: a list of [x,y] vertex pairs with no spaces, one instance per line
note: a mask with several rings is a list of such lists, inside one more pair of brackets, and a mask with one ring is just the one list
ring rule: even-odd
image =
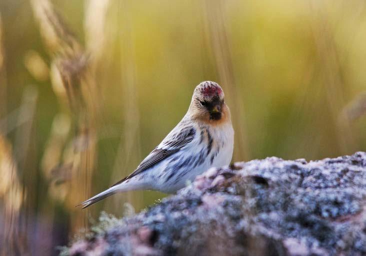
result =
[[366,153],[209,169],[70,256],[366,255]]

